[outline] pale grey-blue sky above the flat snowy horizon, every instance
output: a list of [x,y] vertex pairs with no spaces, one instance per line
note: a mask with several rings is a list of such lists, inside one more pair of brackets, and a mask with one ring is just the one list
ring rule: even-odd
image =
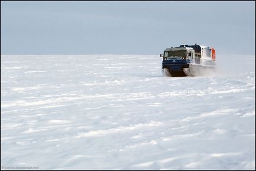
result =
[[1,54],[255,55],[255,1],[1,1]]

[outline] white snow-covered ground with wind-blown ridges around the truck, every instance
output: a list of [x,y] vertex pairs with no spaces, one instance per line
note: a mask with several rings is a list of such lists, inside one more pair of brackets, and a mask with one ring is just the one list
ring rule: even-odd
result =
[[255,55],[1,55],[1,169],[255,170]]

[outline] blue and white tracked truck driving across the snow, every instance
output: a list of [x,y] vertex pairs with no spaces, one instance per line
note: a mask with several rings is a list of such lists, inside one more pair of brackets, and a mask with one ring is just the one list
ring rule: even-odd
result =
[[205,45],[166,48],[160,57],[163,74],[171,77],[196,76],[216,68],[215,49]]

